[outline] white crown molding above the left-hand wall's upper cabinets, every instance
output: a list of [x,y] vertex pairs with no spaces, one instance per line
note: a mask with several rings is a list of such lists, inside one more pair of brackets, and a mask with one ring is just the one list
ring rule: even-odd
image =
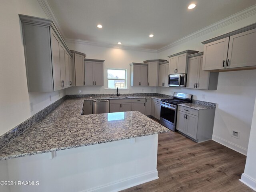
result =
[[55,26],[58,28],[58,30],[60,32],[60,35],[62,37],[65,37],[64,33],[63,33],[63,31],[62,31],[62,29],[60,27],[60,24],[58,22],[58,19],[56,18],[55,14],[54,14],[54,12],[52,10],[52,7],[50,6],[48,0],[37,0],[37,1],[40,4],[40,6],[42,7],[42,9],[44,10],[46,16],[54,22]]

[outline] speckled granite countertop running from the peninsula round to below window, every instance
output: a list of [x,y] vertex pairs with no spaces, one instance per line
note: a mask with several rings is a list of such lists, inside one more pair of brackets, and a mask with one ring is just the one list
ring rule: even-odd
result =
[[80,115],[83,102],[84,98],[65,100],[4,146],[0,160],[169,132],[138,111]]

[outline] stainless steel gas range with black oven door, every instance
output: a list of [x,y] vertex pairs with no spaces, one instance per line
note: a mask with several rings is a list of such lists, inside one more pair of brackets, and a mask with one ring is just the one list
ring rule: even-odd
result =
[[174,92],[173,99],[161,100],[160,124],[172,131],[176,131],[178,104],[191,103],[192,95]]

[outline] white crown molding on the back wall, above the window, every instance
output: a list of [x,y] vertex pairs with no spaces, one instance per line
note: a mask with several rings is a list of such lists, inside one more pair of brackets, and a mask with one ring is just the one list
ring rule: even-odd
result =
[[65,39],[65,41],[68,43],[74,43],[74,44],[85,44],[85,45],[92,45],[92,46],[98,46],[98,47],[157,53],[157,50],[154,50],[154,49],[145,49],[145,48],[116,45],[116,44],[110,44],[110,43],[100,43],[100,42],[86,41],[81,39]]

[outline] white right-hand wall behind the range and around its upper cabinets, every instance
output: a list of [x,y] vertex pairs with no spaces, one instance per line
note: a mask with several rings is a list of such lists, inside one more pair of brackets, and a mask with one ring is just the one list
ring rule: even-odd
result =
[[[167,59],[169,55],[188,49],[203,51],[202,41],[242,28],[255,21],[256,14],[159,52],[158,58]],[[256,96],[256,70],[220,72],[217,90],[156,88],[156,92],[162,94],[190,93],[196,100],[217,103],[213,140],[246,154]],[[231,136],[232,130],[240,132],[240,139]]]

